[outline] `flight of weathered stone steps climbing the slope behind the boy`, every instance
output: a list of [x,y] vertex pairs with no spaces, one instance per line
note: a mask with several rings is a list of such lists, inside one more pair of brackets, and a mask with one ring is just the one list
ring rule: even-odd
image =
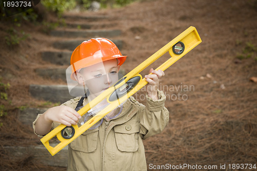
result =
[[[88,40],[92,37],[106,37],[112,40],[119,49],[122,48],[122,41],[115,40],[116,36],[121,35],[120,30],[90,30],[92,25],[81,24],[90,23],[90,21],[104,20],[106,16],[80,16],[75,17],[75,15],[65,15],[66,20],[73,20],[72,23],[67,23],[65,28],[58,28],[51,31],[51,36],[62,37],[62,41],[57,41],[52,43],[52,48],[54,50],[42,51],[41,57],[46,62],[55,64],[54,68],[39,68],[35,72],[44,78],[50,78],[53,80],[61,79],[63,84],[61,85],[30,85],[29,92],[30,95],[39,100],[45,100],[49,102],[66,102],[67,100],[73,98],[70,96],[66,82],[66,69],[70,65],[70,56],[72,51],[83,41]],[[76,23],[77,22],[77,23]],[[79,23],[80,22],[80,23]],[[80,26],[79,29],[76,28]],[[79,37],[79,39],[78,39]],[[60,40],[60,39],[59,39]],[[51,48],[51,49],[52,49]],[[43,113],[46,108],[26,108],[20,111],[19,119],[24,124],[30,125],[32,127],[32,122],[38,115],[38,113]],[[23,156],[25,154],[33,155],[34,158],[38,159],[42,163],[50,166],[67,166],[67,146],[62,149],[58,154],[53,157],[50,155],[48,150],[43,145],[33,146],[33,147],[6,147],[13,156]]]

